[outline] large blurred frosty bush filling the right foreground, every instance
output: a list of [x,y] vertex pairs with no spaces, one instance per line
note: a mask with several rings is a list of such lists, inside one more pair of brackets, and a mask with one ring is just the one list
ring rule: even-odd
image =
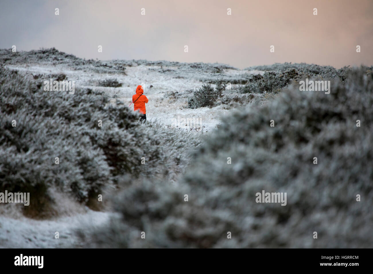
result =
[[[353,70],[330,94],[290,89],[226,117],[177,185],[128,186],[122,218],[87,245],[372,248],[373,74]],[[257,203],[262,190],[286,192],[286,206]]]

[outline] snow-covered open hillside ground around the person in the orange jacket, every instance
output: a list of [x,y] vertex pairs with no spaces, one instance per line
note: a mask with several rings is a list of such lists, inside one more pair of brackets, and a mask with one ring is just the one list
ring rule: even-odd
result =
[[[180,67],[173,66],[147,66],[137,65],[126,67],[126,74],[103,74],[93,71],[73,70],[66,67],[66,64],[56,66],[40,64],[8,65],[7,67],[31,74],[66,74],[68,80],[75,81],[75,86],[82,86],[91,89],[106,91],[108,94],[116,94],[124,104],[129,105],[132,101],[132,95],[135,94],[137,85],[143,85],[144,94],[149,99],[146,104],[147,120],[157,121],[162,125],[171,127],[175,120],[189,119],[200,122],[200,129],[195,127],[186,127],[185,130],[192,132],[210,132],[219,124],[219,117],[226,115],[229,110],[223,106],[214,108],[202,107],[197,109],[186,108],[187,90],[200,88],[204,82],[203,79],[231,78],[247,75],[251,73],[261,73],[260,71],[247,71],[238,69],[224,69],[222,73],[201,73],[189,69],[185,71]],[[165,72],[162,72],[165,70]],[[177,75],[177,76],[175,76]],[[117,79],[122,86],[119,88],[97,86],[98,81],[104,79]],[[152,87],[150,87],[152,86]],[[178,100],[169,100],[167,92],[178,92],[181,98]],[[184,96],[183,96],[184,94]],[[189,93],[190,94],[190,93]],[[133,104],[130,106],[133,108]]]

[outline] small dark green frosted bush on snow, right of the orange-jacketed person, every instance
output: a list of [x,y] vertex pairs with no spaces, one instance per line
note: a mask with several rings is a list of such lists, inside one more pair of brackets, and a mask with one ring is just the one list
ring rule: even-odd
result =
[[211,85],[203,85],[188,98],[188,108],[213,107],[218,97],[219,92]]

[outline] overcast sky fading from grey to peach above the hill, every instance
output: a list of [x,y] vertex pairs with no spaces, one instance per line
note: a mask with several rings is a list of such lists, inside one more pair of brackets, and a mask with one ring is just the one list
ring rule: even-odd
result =
[[0,48],[16,45],[17,51],[55,47],[86,59],[219,62],[238,68],[276,62],[373,65],[373,0],[0,3]]

